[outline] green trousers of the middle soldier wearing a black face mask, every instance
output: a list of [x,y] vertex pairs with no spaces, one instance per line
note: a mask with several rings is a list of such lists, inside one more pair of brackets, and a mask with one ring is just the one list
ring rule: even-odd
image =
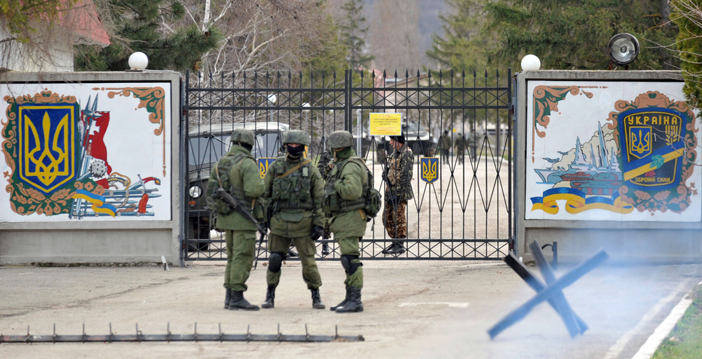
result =
[[[271,234],[268,237],[268,250],[270,252],[281,252],[286,254],[290,249],[290,243],[295,245],[300,256],[300,262],[303,264],[303,280],[307,283],[307,289],[317,289],[322,286],[322,277],[319,276],[317,262],[314,260],[314,255],[317,254],[317,247],[314,245],[312,238],[287,238]],[[266,282],[268,285],[277,287],[280,283],[280,275],[282,269],[277,273],[272,272],[270,267],[266,271]]]

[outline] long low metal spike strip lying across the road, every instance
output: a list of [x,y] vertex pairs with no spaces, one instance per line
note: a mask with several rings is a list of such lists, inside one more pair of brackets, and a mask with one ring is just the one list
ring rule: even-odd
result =
[[338,326],[334,327],[334,335],[311,335],[307,331],[305,324],[305,334],[282,334],[280,332],[280,324],[278,324],[277,334],[251,334],[251,325],[246,327],[246,334],[225,334],[222,332],[222,324],[218,323],[219,334],[200,334],[197,332],[197,323],[194,325],[193,334],[173,334],[171,333],[171,323],[166,326],[166,334],[143,334],[139,330],[139,325],[135,325],[135,334],[113,334],[112,323],[110,323],[110,334],[107,335],[92,335],[86,334],[85,323],[83,324],[82,335],[57,335],[56,325],[53,325],[52,335],[32,335],[29,334],[29,326],[27,326],[27,335],[4,335],[0,334],[0,344],[11,343],[86,343],[86,342],[104,342],[112,343],[114,341],[297,341],[297,342],[331,342],[331,341],[365,341],[363,335],[356,336],[340,336],[338,334]]

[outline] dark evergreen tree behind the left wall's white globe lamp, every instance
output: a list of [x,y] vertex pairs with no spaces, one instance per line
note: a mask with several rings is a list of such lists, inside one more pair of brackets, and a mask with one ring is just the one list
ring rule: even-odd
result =
[[112,45],[78,46],[77,71],[124,71],[135,51],[149,57],[148,69],[184,71],[194,67],[222,37],[213,26],[206,31],[192,25],[171,34],[161,32],[162,20],[176,22],[185,15],[178,0],[110,0],[110,12],[115,27]]

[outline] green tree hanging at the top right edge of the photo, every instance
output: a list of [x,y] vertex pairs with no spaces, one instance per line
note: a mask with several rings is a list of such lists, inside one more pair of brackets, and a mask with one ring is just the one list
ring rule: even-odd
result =
[[680,57],[680,67],[685,79],[683,91],[688,103],[699,108],[702,98],[702,1],[700,0],[673,0],[673,13],[670,18],[680,28],[677,34],[677,54]]

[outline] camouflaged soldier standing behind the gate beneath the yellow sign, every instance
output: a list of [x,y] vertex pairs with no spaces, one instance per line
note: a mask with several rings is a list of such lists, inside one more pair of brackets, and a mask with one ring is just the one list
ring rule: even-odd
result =
[[[385,210],[383,225],[393,239],[407,238],[407,201],[414,198],[412,191],[412,165],[414,154],[407,147],[404,135],[390,136],[390,146],[395,149],[388,157],[385,167]],[[405,252],[404,241],[392,241],[384,254],[401,255]]]

